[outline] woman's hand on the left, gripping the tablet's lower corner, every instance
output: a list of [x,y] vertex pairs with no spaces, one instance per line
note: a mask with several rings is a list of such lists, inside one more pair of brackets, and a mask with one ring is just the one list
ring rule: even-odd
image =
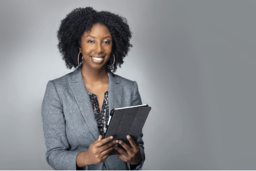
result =
[[86,158],[90,164],[100,164],[108,158],[109,152],[115,148],[115,144],[118,144],[118,140],[105,144],[112,139],[113,136],[102,139],[100,135],[96,141],[90,144],[89,149],[86,151]]

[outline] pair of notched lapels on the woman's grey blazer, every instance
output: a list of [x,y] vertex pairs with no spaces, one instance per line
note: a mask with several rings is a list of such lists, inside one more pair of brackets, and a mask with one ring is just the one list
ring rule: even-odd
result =
[[[117,79],[117,76],[115,76],[115,74],[113,74],[109,69],[107,69],[107,72],[109,77],[108,103],[110,113],[112,109],[122,107],[123,92],[122,87],[119,85],[120,81]],[[78,67],[72,73],[69,86],[71,87],[85,123],[88,125],[89,130],[92,132],[95,140],[97,140],[100,133],[98,132],[98,124],[93,113],[92,103],[90,102],[88,91],[84,84],[84,80],[82,80],[81,67]]]

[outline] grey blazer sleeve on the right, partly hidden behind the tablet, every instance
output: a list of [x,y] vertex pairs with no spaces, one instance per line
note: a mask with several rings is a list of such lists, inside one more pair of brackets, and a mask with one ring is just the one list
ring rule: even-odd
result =
[[[142,101],[141,101],[141,95],[139,94],[138,84],[136,81],[134,81],[134,93],[131,101],[131,106],[137,106],[137,105],[142,105]],[[139,148],[141,148],[142,160],[137,165],[131,165],[127,163],[128,168],[130,170],[142,170],[142,166],[145,161],[145,153],[144,153],[144,146],[143,146],[144,142],[142,140],[142,137],[143,137],[143,133],[141,131],[141,135],[139,135],[138,137],[138,143],[139,143]]]

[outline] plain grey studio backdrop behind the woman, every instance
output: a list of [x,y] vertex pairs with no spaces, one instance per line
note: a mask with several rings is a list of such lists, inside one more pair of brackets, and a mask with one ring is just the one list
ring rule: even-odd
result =
[[1,170],[51,170],[42,101],[49,80],[73,71],[56,32],[86,6],[133,31],[115,74],[152,107],[144,170],[256,169],[256,1],[0,1]]

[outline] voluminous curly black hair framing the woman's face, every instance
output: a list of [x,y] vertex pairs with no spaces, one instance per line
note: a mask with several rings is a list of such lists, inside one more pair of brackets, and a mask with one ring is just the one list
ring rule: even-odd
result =
[[84,31],[90,31],[93,24],[96,23],[101,23],[108,27],[113,37],[112,54],[115,56],[115,62],[112,55],[106,67],[112,72],[115,72],[117,66],[121,68],[124,57],[130,51],[130,47],[133,47],[130,44],[132,33],[126,18],[109,11],[96,11],[92,7],[85,7],[72,10],[67,14],[61,20],[57,31],[57,39],[59,40],[57,47],[68,69],[72,69],[72,67],[76,69],[79,66],[77,55],[79,54],[81,36]]

